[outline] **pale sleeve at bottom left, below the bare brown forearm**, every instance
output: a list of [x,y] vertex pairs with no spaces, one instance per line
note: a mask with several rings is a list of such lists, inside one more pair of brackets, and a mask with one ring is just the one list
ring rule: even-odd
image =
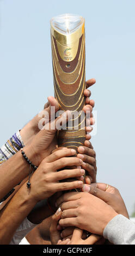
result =
[[23,220],[19,228],[16,229],[13,239],[9,245],[19,245],[24,236],[26,236],[30,230],[36,227],[37,224],[33,224],[27,218]]

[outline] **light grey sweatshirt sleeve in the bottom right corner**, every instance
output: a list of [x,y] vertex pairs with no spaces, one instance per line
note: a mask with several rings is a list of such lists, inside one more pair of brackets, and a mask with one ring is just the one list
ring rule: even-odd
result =
[[106,225],[103,236],[114,245],[135,245],[135,224],[121,214],[116,215]]

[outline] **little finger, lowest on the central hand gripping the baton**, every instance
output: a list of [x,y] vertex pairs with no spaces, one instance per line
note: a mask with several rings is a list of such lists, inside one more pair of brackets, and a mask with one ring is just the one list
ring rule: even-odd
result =
[[54,191],[65,191],[65,190],[73,190],[75,188],[82,188],[83,181],[72,181],[72,182],[60,182],[58,184],[54,184]]

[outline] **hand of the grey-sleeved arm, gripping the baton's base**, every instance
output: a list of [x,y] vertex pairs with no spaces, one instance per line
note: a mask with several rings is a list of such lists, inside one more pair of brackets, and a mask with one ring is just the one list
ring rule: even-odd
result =
[[57,205],[62,209],[60,226],[76,226],[97,235],[102,235],[108,222],[118,215],[101,199],[84,192],[63,194]]

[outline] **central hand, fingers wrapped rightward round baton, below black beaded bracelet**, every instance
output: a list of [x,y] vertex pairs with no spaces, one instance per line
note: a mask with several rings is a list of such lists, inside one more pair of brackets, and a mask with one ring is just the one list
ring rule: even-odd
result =
[[63,179],[75,178],[84,175],[83,169],[57,170],[65,166],[81,166],[82,160],[78,157],[67,157],[75,155],[73,149],[62,149],[46,157],[36,169],[30,179],[30,197],[39,202],[52,196],[58,191],[82,188],[83,181],[60,182]]

